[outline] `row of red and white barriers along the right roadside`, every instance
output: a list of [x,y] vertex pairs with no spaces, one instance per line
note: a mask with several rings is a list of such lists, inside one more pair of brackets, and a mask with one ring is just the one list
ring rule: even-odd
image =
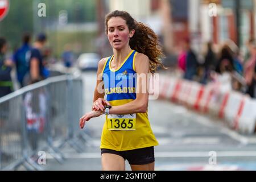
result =
[[240,133],[255,132],[256,100],[228,90],[220,82],[204,86],[167,76],[159,80],[160,98],[218,117]]

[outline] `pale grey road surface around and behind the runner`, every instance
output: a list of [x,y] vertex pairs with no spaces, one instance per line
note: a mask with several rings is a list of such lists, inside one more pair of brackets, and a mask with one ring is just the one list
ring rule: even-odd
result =
[[[84,72],[85,111],[92,106],[96,72]],[[151,100],[148,117],[159,141],[156,170],[256,170],[256,135],[240,135],[216,118],[209,118],[168,101]],[[89,141],[84,152],[64,147],[67,160],[49,157],[47,170],[101,170],[100,137],[104,115],[86,123]],[[77,121],[77,125],[79,121]],[[130,170],[126,161],[126,170]]]

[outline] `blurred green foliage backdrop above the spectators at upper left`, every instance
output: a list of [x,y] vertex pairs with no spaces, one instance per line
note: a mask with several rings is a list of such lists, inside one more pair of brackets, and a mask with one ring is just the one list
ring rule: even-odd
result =
[[[0,22],[0,36],[4,36],[11,47],[20,45],[24,32],[32,35],[49,30],[58,23],[59,12],[68,12],[68,23],[85,23],[96,20],[94,0],[9,0],[10,10]],[[46,17],[38,16],[38,3],[46,4]]]

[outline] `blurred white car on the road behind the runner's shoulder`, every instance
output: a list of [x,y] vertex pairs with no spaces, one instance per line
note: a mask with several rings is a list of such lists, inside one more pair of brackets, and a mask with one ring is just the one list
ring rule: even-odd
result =
[[97,53],[82,53],[77,59],[77,67],[82,71],[96,70],[98,69],[98,62],[100,61],[100,55]]

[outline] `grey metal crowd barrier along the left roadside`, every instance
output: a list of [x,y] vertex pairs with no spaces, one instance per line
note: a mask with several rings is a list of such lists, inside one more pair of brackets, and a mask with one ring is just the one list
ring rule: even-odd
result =
[[65,144],[82,152],[86,140],[79,129],[79,118],[84,114],[83,90],[79,76],[63,75],[0,98],[0,170],[21,165],[42,170],[39,151],[63,163],[61,147]]

